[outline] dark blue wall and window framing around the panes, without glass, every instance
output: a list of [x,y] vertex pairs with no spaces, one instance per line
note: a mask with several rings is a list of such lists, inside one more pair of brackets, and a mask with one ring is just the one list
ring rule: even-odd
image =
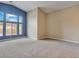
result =
[[[22,37],[22,36],[27,36],[26,34],[26,12],[9,4],[4,4],[0,3],[0,11],[4,13],[4,21],[3,22],[3,36],[0,36],[0,39],[6,39],[6,38],[14,38],[14,37]],[[18,15],[23,17],[23,23],[22,23],[22,34],[19,35],[19,22],[12,22],[12,23],[17,23],[17,35],[11,35],[11,36],[6,36],[6,23],[9,23],[8,21],[6,22],[6,13]],[[19,18],[18,18],[19,19]],[[19,20],[18,20],[19,21]],[[11,22],[10,22],[11,23]]]

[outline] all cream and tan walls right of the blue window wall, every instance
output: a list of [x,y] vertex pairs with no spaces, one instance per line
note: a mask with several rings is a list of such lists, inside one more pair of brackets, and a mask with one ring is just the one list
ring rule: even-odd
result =
[[45,14],[39,8],[27,13],[28,37],[79,42],[79,6]]

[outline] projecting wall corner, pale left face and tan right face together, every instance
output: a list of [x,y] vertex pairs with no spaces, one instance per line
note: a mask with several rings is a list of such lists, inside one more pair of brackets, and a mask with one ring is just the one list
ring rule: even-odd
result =
[[35,8],[27,13],[28,37],[32,39],[43,39],[46,35],[46,14]]

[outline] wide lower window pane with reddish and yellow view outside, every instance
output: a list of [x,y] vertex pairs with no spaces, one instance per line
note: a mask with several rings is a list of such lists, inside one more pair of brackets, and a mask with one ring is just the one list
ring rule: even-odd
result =
[[16,35],[17,34],[17,24],[6,23],[6,35]]

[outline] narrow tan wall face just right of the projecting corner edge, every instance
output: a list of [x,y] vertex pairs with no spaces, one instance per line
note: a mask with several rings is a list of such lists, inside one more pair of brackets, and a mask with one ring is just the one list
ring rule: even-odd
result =
[[46,36],[46,13],[38,8],[38,39]]

